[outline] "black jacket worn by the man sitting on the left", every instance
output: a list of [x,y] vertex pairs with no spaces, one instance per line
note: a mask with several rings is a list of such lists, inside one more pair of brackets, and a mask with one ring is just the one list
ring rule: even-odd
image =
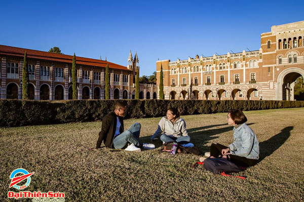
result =
[[102,141],[106,147],[114,148],[113,139],[116,131],[117,117],[121,123],[120,133],[124,132],[123,117],[117,116],[114,111],[111,111],[102,118],[101,131],[99,132],[96,149],[100,148]]

